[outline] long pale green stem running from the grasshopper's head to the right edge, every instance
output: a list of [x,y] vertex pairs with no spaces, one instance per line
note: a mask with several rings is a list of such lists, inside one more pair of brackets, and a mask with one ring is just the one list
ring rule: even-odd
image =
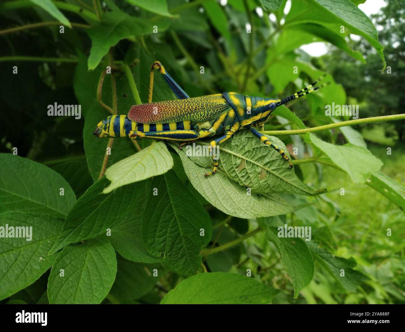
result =
[[329,125],[323,125],[323,126],[313,127],[313,128],[295,129],[295,130],[267,130],[267,131],[262,132],[262,134],[266,134],[266,135],[300,135],[300,134],[311,133],[311,132],[320,132],[322,130],[327,130],[327,129],[332,129],[332,128],[345,127],[347,125],[353,126],[353,125],[358,125],[360,123],[373,123],[373,122],[379,122],[379,121],[394,121],[394,120],[402,120],[402,119],[405,119],[405,114],[374,116],[371,118],[342,121],[342,122],[338,122],[338,123],[330,123]]

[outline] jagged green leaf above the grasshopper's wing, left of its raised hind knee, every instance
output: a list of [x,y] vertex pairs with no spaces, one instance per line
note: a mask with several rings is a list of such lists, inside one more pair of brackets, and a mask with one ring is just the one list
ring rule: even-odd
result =
[[[154,24],[147,19],[132,17],[122,11],[111,11],[104,13],[102,22],[87,29],[86,32],[92,40],[92,48],[87,61],[89,70],[95,69],[111,46],[117,44],[121,39],[144,34],[153,33]],[[164,20],[159,21],[158,31],[167,28]]]

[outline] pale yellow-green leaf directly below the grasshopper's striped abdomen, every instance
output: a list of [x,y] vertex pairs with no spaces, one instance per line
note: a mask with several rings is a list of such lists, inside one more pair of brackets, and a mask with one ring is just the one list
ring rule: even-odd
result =
[[105,172],[110,185],[103,190],[104,194],[112,192],[128,183],[145,180],[161,175],[173,167],[173,158],[162,141],[154,140],[149,147],[120,160]]

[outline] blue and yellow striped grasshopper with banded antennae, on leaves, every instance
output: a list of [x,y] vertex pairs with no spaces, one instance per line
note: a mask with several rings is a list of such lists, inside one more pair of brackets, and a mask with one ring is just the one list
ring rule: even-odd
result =
[[[177,100],[152,103],[153,73],[157,69],[179,98]],[[264,144],[275,149],[290,165],[292,163],[285,151],[273,144],[254,127],[263,127],[271,113],[280,105],[292,99],[302,97],[318,90],[329,82],[315,86],[319,80],[301,91],[284,99],[249,97],[234,92],[190,98],[187,93],[171,78],[163,65],[156,61],[151,66],[149,103],[135,105],[128,115],[112,115],[100,121],[94,135],[104,137],[156,138],[162,140],[183,141],[219,136],[211,141],[210,147],[225,142],[239,129],[249,129]],[[215,174],[218,161],[213,157],[214,167],[205,176]]]

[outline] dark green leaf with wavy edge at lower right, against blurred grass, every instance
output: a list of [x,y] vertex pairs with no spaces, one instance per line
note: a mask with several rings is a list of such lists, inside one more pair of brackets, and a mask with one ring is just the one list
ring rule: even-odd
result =
[[[320,247],[316,241],[309,241],[308,247],[316,261],[318,261],[345,289],[355,292],[358,285],[368,278],[360,271],[353,269],[356,261],[337,257]],[[344,270],[344,276],[342,271]]]

